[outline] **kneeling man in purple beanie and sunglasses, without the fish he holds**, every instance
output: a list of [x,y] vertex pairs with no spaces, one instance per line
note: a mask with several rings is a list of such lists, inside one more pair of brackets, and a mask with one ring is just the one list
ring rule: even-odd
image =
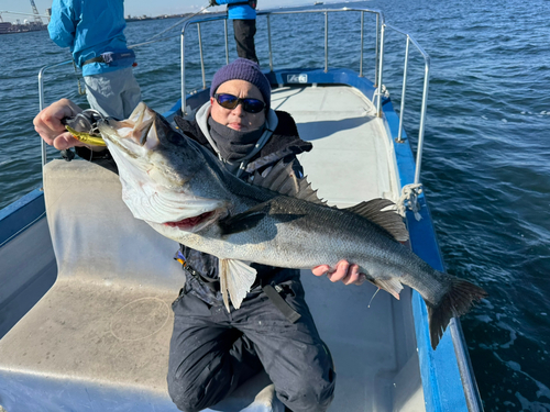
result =
[[[68,148],[77,141],[63,133],[61,119],[80,109],[61,100],[34,119],[42,138]],[[271,87],[260,67],[239,58],[219,69],[210,100],[196,120],[175,119],[188,138],[210,149],[243,180],[266,175],[278,162],[301,175],[297,155],[311,149],[293,118],[271,108]],[[223,305],[218,258],[182,245],[185,286],[172,308],[174,331],[168,361],[168,392],[185,412],[212,407],[265,369],[277,398],[293,412],[324,412],[336,385],[328,347],[321,341],[305,300],[297,269],[252,264],[256,281],[240,309]],[[358,265],[341,260],[312,269],[333,282],[361,285]]]

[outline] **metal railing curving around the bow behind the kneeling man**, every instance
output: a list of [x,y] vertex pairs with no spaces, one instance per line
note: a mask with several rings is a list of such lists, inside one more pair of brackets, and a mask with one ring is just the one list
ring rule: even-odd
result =
[[[418,130],[418,143],[417,143],[417,158],[416,158],[416,170],[415,170],[415,181],[414,183],[420,182],[420,170],[422,162],[422,148],[424,148],[424,132],[426,123],[426,109],[428,104],[428,88],[429,88],[429,73],[430,73],[430,57],[426,51],[418,44],[413,36],[397,27],[394,27],[385,22],[384,14],[380,10],[370,9],[354,9],[354,8],[343,8],[343,9],[309,9],[309,10],[283,10],[283,11],[258,11],[258,15],[265,15],[267,20],[267,45],[270,55],[270,70],[274,70],[273,63],[273,44],[272,44],[272,32],[271,32],[271,19],[275,15],[289,15],[289,14],[304,14],[304,13],[322,13],[324,14],[324,73],[329,70],[329,13],[341,13],[341,12],[360,12],[361,13],[361,45],[360,45],[360,71],[359,76],[363,77],[363,62],[364,62],[364,18],[365,13],[371,13],[376,15],[375,24],[375,45],[374,45],[374,86],[376,87],[376,92],[373,98],[376,100],[376,114],[382,116],[382,98],[385,94],[383,86],[383,73],[384,73],[384,44],[385,44],[385,33],[386,29],[393,30],[406,37],[406,48],[405,48],[405,64],[403,71],[403,86],[402,86],[402,101],[399,110],[399,126],[398,126],[398,137],[397,143],[404,143],[403,140],[403,129],[404,129],[404,114],[405,114],[405,101],[406,101],[406,90],[407,90],[407,70],[409,60],[409,49],[410,44],[413,44],[424,58],[425,63],[425,75],[424,75],[424,89],[420,109],[420,120]],[[187,89],[186,89],[186,53],[185,53],[185,37],[186,31],[191,24],[197,25],[198,32],[198,43],[199,43],[199,55],[200,55],[200,69],[202,76],[202,89],[207,88],[206,73],[205,73],[205,58],[202,53],[202,37],[200,32],[200,25],[207,22],[223,21],[224,23],[224,36],[226,36],[226,63],[229,64],[229,41],[228,41],[228,16],[227,14],[219,15],[208,15],[187,20],[182,27],[182,111],[187,113],[186,100],[187,100]]]

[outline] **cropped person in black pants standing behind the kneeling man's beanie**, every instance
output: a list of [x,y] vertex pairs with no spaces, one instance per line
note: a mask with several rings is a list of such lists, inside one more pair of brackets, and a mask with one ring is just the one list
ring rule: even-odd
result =
[[228,19],[233,21],[237,54],[254,63],[258,63],[254,46],[256,3],[256,0],[210,0],[210,5],[228,4]]

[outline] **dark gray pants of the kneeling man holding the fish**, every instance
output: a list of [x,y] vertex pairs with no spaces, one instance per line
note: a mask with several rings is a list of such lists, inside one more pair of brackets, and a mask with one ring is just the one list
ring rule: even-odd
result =
[[277,398],[292,411],[328,409],[336,385],[332,359],[314,324],[299,277],[278,285],[285,301],[301,314],[296,323],[262,289],[249,293],[231,313],[193,293],[182,292],[173,303],[168,392],[182,411],[215,405],[262,367]]

